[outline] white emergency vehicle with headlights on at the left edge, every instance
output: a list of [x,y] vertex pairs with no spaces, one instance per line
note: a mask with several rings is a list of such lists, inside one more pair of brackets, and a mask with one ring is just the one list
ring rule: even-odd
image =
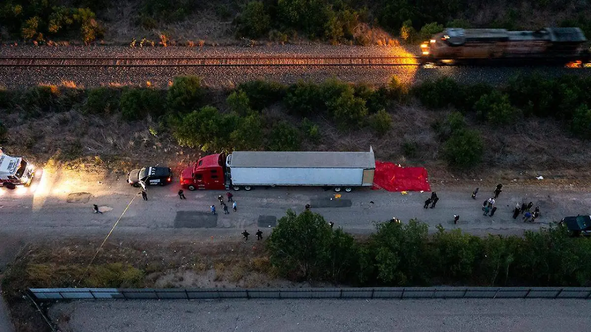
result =
[[0,149],[0,186],[15,189],[29,185],[35,175],[33,164],[21,157],[11,157]]

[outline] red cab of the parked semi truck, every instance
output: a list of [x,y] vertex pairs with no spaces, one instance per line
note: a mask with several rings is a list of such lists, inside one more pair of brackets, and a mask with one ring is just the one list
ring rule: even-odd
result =
[[225,158],[223,154],[206,155],[197,164],[181,172],[181,187],[191,191],[197,189],[225,190]]

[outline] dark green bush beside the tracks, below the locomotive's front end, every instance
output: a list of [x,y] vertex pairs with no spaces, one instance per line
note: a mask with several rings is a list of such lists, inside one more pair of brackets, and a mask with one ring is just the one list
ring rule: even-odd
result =
[[435,81],[427,80],[414,88],[414,95],[417,96],[423,105],[430,108],[444,108],[452,105],[458,98],[460,92],[456,81],[442,77]]

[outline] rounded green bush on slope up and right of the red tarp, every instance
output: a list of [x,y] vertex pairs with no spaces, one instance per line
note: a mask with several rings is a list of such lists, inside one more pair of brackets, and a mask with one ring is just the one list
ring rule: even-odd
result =
[[454,167],[470,168],[479,164],[484,146],[477,131],[456,131],[443,145],[446,160]]

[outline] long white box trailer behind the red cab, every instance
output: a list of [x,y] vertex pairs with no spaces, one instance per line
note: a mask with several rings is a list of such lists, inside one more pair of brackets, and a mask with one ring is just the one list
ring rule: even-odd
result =
[[369,152],[235,151],[226,158],[230,187],[315,185],[335,191],[374,184],[374,150]]

